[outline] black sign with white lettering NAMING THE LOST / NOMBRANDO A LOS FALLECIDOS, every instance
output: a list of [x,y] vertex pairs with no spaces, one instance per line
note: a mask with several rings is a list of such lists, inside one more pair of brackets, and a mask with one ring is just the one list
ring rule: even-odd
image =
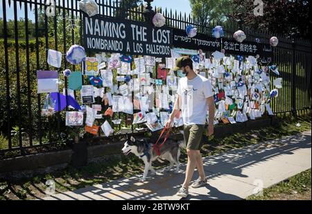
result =
[[[83,19],[87,51],[171,57],[171,28],[96,15]],[[147,64],[155,64],[154,58]]]

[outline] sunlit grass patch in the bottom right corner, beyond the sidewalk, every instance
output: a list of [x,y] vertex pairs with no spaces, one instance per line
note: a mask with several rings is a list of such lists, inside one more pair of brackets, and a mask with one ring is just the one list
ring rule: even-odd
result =
[[[251,195],[248,200],[300,199],[309,194],[311,200],[311,169],[263,190],[262,195]],[[287,197],[285,197],[287,195]],[[309,196],[308,196],[309,198]],[[304,197],[306,199],[306,197]]]

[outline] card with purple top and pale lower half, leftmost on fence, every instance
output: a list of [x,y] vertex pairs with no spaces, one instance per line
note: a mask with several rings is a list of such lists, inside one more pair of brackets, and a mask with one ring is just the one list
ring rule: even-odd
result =
[[58,71],[37,71],[37,93],[58,92]]

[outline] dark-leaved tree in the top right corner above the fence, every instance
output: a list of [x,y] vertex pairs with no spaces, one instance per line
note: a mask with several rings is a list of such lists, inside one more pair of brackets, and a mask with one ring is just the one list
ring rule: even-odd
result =
[[263,0],[263,16],[254,15],[253,1],[233,0],[231,19],[242,19],[244,26],[300,37],[311,35],[310,3],[308,0]]

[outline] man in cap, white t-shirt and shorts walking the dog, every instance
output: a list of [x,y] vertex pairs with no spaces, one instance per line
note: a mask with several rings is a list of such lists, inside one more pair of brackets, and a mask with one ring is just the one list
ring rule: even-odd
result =
[[195,168],[197,168],[200,177],[191,187],[199,188],[207,184],[200,147],[202,134],[205,129],[207,109],[209,109],[207,134],[211,136],[214,133],[214,93],[210,81],[193,71],[193,62],[190,57],[179,57],[175,65],[174,71],[182,70],[186,76],[179,80],[179,86],[177,88],[178,97],[175,100],[173,112],[166,123],[166,127],[171,127],[173,118],[175,118],[181,109],[188,161],[185,180],[182,188],[177,192],[177,196],[187,197],[189,195],[189,183],[193,177]]

